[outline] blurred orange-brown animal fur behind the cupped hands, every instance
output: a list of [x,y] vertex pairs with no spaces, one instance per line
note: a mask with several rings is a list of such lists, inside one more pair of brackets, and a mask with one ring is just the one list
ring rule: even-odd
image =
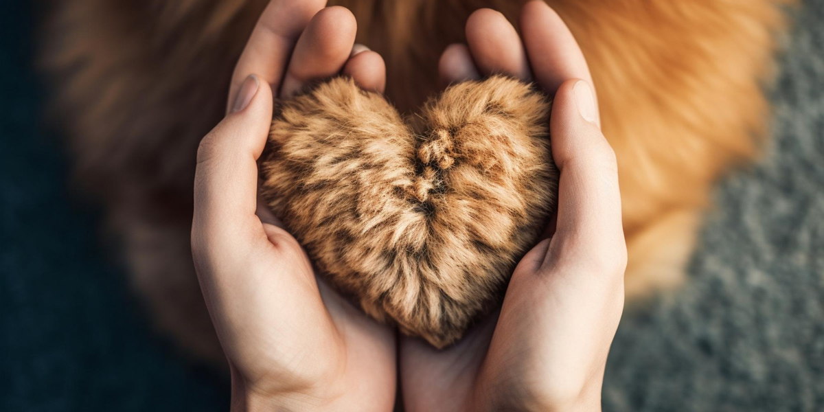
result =
[[[382,54],[401,112],[438,91],[438,57],[471,12],[517,27],[525,0],[333,0]],[[776,35],[792,0],[548,0],[588,59],[616,151],[628,298],[684,281],[714,180],[757,153]],[[222,118],[266,0],[54,2],[41,63],[77,180],[105,206],[133,287],[194,358],[223,362],[190,255],[194,157]]]

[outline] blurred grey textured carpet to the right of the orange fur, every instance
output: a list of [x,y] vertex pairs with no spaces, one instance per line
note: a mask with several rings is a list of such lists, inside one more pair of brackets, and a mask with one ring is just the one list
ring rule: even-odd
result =
[[824,1],[796,18],[767,157],[719,185],[688,286],[625,315],[605,410],[824,410]]

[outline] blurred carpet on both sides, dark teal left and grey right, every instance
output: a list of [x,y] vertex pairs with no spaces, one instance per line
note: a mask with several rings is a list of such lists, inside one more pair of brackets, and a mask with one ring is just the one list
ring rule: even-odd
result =
[[[157,335],[44,121],[30,2],[0,13],[0,410],[227,410]],[[803,2],[766,156],[714,191],[691,280],[629,308],[605,410],[824,410],[824,0]]]

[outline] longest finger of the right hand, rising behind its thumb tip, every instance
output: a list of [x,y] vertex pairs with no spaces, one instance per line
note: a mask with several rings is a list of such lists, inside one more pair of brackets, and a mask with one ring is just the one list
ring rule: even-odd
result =
[[[574,78],[592,85],[592,75],[578,42],[558,13],[545,2],[533,1],[524,5],[521,33],[532,74],[545,91],[555,93],[562,83]],[[592,96],[596,96],[594,89]],[[600,125],[600,122],[596,117],[596,124]]]

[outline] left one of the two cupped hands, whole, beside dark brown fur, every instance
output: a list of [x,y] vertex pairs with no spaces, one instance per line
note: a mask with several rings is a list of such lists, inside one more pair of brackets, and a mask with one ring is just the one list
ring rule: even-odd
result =
[[257,200],[256,160],[273,96],[337,73],[384,87],[381,57],[353,46],[352,13],[324,6],[269,3],[237,63],[227,116],[198,149],[192,252],[232,371],[233,410],[394,405],[394,330],[320,282],[295,238]]

